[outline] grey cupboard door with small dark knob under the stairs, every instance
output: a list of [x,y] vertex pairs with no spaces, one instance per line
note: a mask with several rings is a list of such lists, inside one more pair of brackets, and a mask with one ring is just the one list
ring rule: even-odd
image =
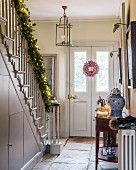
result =
[[19,170],[23,166],[23,112],[10,116],[9,169]]

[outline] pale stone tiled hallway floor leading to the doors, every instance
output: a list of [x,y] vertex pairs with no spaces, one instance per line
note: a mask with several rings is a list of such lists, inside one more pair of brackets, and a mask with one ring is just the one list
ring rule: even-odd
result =
[[[118,164],[99,161],[98,170],[117,170]],[[94,140],[69,139],[60,155],[45,155],[33,170],[95,170]]]

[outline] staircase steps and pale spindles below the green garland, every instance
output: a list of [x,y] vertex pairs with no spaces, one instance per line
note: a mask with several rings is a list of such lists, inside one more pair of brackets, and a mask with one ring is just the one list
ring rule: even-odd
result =
[[[37,128],[43,145],[45,145],[45,105],[43,103],[38,84],[36,83],[32,67],[29,64],[27,41],[21,37],[17,26],[14,4],[12,3],[11,7],[11,2],[5,1],[5,4],[6,2],[9,3],[8,5],[11,10],[4,10],[7,12],[7,14],[5,13],[7,18],[8,16],[10,17],[8,18],[9,20],[7,20],[4,16],[0,17],[0,37],[2,45],[6,50],[5,54],[3,51],[1,51],[1,53],[3,54],[7,69],[11,74],[11,78],[14,77],[18,81],[18,86],[24,96],[24,102],[29,108],[34,125]],[[6,8],[7,6],[3,6],[3,8]],[[11,13],[12,17],[10,16]],[[11,23],[16,23],[16,25],[10,25]]]

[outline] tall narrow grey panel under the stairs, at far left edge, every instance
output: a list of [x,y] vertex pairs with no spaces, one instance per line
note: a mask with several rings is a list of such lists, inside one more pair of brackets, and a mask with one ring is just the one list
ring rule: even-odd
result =
[[8,87],[9,76],[0,55],[0,170],[8,169]]

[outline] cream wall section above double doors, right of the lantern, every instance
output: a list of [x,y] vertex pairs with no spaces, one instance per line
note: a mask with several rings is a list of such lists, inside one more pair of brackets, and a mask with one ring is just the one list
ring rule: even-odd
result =
[[113,26],[119,21],[84,21],[73,22],[73,41],[100,42],[119,41],[120,32],[113,33]]

